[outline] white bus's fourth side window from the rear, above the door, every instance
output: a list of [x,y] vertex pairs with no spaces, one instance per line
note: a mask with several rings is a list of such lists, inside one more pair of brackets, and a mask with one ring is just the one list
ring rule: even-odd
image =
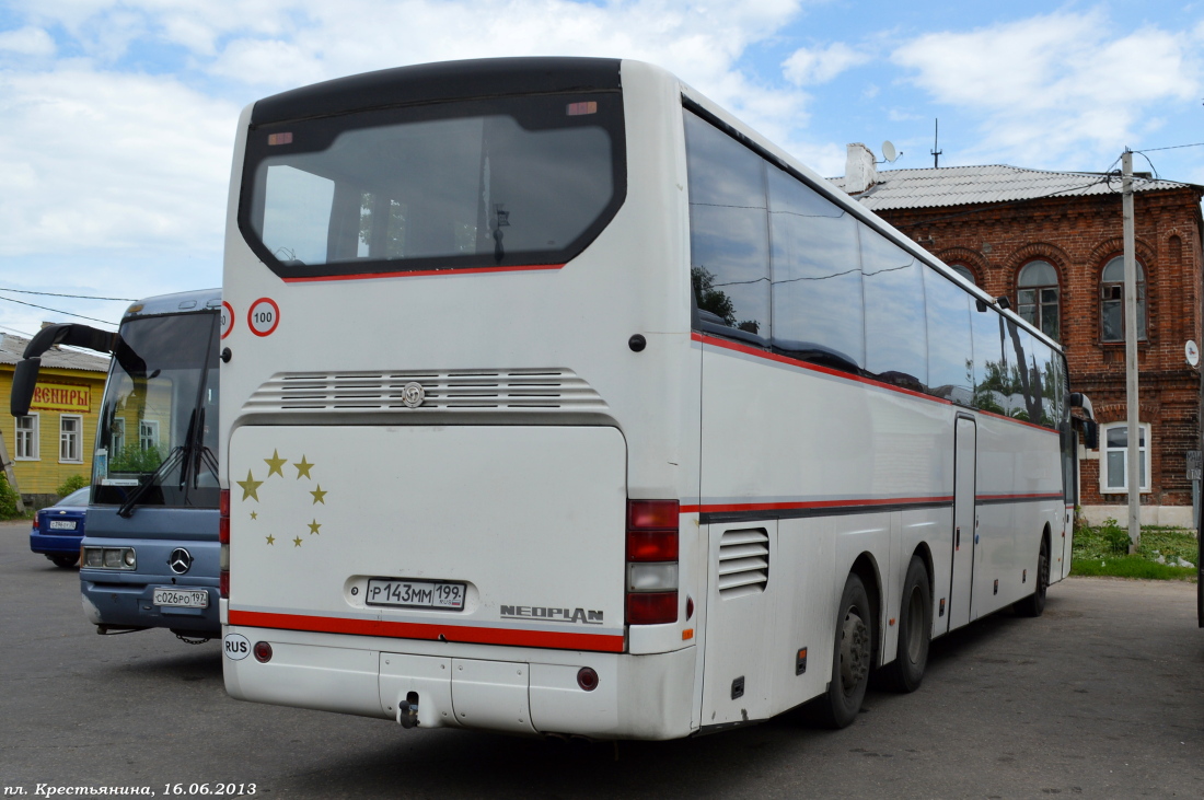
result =
[[928,391],[970,404],[974,354],[970,348],[970,297],[952,280],[925,271],[928,310]]

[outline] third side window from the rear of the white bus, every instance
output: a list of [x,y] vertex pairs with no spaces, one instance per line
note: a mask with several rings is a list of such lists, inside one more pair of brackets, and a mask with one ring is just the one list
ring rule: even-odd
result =
[[866,297],[866,369],[916,391],[928,383],[923,268],[907,250],[858,223]]

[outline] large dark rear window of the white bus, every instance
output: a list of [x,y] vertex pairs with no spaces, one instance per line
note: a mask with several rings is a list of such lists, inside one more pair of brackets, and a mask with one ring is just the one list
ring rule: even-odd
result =
[[261,125],[240,226],[284,278],[563,263],[621,205],[622,146],[615,91]]

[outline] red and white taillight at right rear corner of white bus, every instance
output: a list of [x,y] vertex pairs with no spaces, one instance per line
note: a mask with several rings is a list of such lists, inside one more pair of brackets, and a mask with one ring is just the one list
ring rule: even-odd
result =
[[677,500],[627,500],[627,624],[678,621]]

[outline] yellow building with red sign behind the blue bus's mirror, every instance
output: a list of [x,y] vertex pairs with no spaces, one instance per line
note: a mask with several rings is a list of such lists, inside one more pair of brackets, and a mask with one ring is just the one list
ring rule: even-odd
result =
[[8,414],[12,374],[26,344],[24,337],[0,334],[0,433],[22,498],[40,508],[58,499],[57,488],[71,475],[90,480],[110,360],[79,350],[47,350],[29,416],[14,419]]

